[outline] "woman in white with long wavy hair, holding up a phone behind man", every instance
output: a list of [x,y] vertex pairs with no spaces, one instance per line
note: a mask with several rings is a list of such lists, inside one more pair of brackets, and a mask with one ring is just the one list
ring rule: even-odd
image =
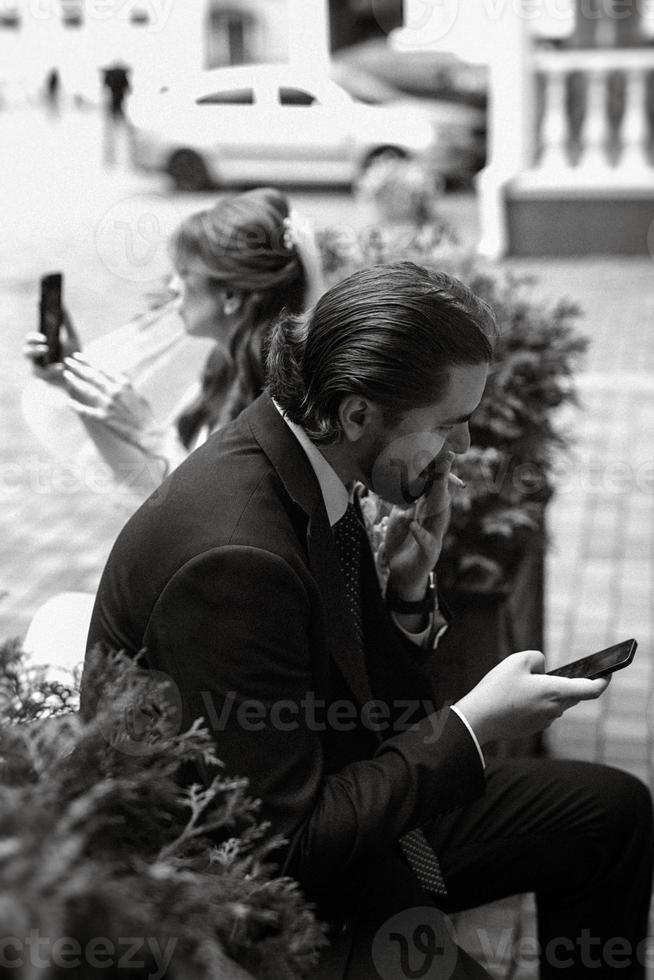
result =
[[[322,292],[313,236],[291,212],[287,197],[270,188],[221,198],[187,217],[171,237],[170,255],[174,298],[135,321],[131,333],[121,328],[82,352],[66,317],[65,357],[45,369],[38,366],[45,337],[30,333],[25,343],[37,385],[63,388],[66,412],[82,421],[116,483],[141,497],[256,398],[264,383],[271,323],[282,309],[301,312]],[[171,317],[181,319],[188,335],[215,342],[195,390],[184,386],[185,404],[174,418],[155,410],[156,393],[148,398],[153,375],[159,388],[179,386],[176,347],[167,343],[166,318]],[[132,369],[116,370],[121,360],[130,363],[130,354]],[[32,391],[29,402],[45,404],[42,396]],[[34,413],[26,415],[29,421]],[[54,446],[60,421],[57,412],[43,412],[33,428]]]

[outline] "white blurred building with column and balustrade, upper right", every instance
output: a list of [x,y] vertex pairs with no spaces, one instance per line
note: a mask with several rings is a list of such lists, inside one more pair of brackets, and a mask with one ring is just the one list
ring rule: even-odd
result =
[[394,43],[489,64],[480,251],[654,246],[654,3],[406,0]]

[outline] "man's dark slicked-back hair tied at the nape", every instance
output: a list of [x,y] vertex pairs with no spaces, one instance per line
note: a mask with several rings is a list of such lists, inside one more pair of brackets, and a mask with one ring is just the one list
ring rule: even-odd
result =
[[343,398],[379,405],[387,424],[443,398],[455,365],[488,363],[497,325],[458,279],[395,262],[332,286],[304,316],[273,327],[268,390],[317,443],[341,435]]

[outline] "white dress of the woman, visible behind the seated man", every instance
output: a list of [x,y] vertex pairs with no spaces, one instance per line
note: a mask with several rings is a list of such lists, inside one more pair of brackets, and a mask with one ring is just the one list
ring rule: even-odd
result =
[[[64,388],[40,378],[32,378],[23,390],[24,419],[57,459],[75,468],[94,466],[104,471],[103,478],[114,483],[114,499],[123,497],[127,517],[164,476],[157,459],[164,458],[170,470],[188,455],[190,450],[179,441],[175,422],[198,391],[198,379],[212,347],[210,340],[188,337],[176,302],[150,311],[85,347],[94,364],[108,373],[127,374],[134,389],[149,402],[157,432],[147,447],[126,442],[106,426],[97,426],[92,439],[68,405]],[[191,448],[197,448],[208,434],[208,428],[200,430]],[[151,481],[127,485],[120,480],[130,466],[147,467],[153,453]],[[94,598],[90,593],[64,592],[48,599],[34,614],[23,639],[28,662],[48,665],[47,676],[70,681],[74,668],[84,659]]]

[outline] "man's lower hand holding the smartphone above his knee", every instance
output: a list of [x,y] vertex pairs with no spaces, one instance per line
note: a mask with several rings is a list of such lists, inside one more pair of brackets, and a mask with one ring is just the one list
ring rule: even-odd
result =
[[540,732],[579,701],[598,698],[609,684],[607,678],[554,677],[544,670],[538,650],[513,653],[457,701],[482,745]]

